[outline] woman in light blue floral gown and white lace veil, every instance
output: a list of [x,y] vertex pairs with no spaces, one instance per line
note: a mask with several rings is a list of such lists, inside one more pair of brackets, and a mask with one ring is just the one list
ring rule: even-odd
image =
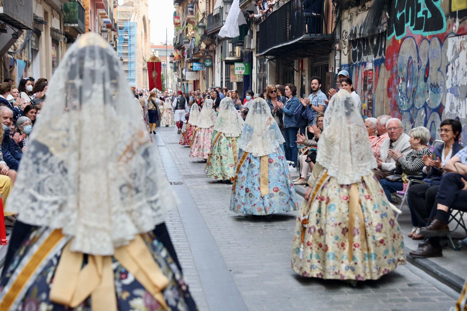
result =
[[283,149],[284,138],[268,104],[256,98],[240,141],[230,210],[269,215],[298,208]]

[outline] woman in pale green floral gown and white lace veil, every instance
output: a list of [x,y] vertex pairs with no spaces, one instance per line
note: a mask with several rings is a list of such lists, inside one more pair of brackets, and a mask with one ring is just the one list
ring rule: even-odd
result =
[[238,144],[244,124],[240,113],[235,110],[232,98],[223,98],[212,133],[211,152],[206,164],[207,177],[230,180],[235,175]]

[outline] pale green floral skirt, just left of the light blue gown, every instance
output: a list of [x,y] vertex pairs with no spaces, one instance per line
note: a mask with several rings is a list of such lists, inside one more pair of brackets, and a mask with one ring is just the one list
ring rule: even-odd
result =
[[[212,144],[217,137],[218,132],[212,133]],[[235,157],[234,152],[238,154],[238,145],[241,136],[233,137],[235,146],[232,143],[232,137],[226,137],[223,133],[212,149],[212,155],[207,163],[207,177],[218,180],[229,180],[235,175]],[[233,150],[235,148],[235,150]]]

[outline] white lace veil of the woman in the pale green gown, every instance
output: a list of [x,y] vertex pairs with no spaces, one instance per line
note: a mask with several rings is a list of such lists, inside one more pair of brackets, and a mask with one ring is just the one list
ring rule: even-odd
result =
[[244,125],[245,121],[243,121],[240,113],[235,110],[232,98],[222,98],[214,131],[222,132],[226,137],[238,137],[241,135]]

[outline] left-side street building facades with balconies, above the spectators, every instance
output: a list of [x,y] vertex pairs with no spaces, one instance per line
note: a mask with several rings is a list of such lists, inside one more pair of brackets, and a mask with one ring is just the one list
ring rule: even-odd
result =
[[[68,47],[85,32],[102,35],[114,46],[113,9],[117,0],[4,0],[0,21],[1,78],[50,79]],[[0,6],[1,7],[1,6]],[[13,36],[12,36],[13,35]],[[1,38],[3,37],[3,41]],[[6,40],[8,37],[8,40]]]

